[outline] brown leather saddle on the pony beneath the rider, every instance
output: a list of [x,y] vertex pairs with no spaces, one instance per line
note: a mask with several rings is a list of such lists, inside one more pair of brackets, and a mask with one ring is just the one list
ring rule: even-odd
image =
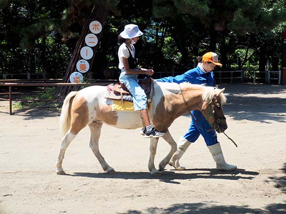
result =
[[[149,108],[150,100],[151,100],[151,91],[153,88],[153,81],[151,77],[145,77],[143,80],[139,81],[139,85],[144,90],[146,96],[147,96],[147,104]],[[116,84],[109,84],[107,86],[107,96],[106,98],[109,99],[116,99],[121,100],[121,103],[123,103],[123,100],[133,102],[132,94],[128,91],[128,89],[123,85],[123,83],[119,82]]]

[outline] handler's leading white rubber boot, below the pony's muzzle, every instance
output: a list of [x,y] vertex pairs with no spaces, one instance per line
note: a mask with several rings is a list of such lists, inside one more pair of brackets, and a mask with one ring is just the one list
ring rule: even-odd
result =
[[213,146],[208,146],[208,148],[213,155],[214,161],[216,162],[216,169],[223,171],[232,171],[237,169],[235,165],[225,162],[219,143],[214,144]]

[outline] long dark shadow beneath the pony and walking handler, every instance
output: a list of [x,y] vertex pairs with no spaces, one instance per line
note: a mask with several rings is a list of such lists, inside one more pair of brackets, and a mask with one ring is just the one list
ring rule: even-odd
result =
[[186,169],[187,173],[178,173],[178,171],[164,171],[160,177],[152,177],[148,172],[117,172],[116,174],[109,175],[107,173],[88,173],[76,172],[67,174],[68,176],[88,177],[88,178],[107,178],[107,179],[131,179],[142,180],[151,179],[159,180],[165,183],[179,184],[179,180],[192,180],[192,179],[225,179],[225,180],[239,180],[247,179],[252,180],[257,172],[246,171],[244,169],[237,169],[232,172],[223,172],[216,169]]

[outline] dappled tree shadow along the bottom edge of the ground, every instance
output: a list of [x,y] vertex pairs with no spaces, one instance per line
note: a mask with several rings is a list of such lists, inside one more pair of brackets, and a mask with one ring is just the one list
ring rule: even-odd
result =
[[286,203],[271,204],[266,208],[251,209],[248,206],[216,206],[206,203],[174,204],[169,208],[147,208],[145,211],[129,210],[117,214],[285,214]]

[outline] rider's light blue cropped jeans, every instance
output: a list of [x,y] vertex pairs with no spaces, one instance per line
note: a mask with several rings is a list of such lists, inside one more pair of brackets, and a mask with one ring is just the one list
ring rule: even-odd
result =
[[138,75],[126,74],[123,68],[119,76],[119,81],[122,82],[132,94],[135,111],[147,109],[147,96],[144,90],[138,84]]

